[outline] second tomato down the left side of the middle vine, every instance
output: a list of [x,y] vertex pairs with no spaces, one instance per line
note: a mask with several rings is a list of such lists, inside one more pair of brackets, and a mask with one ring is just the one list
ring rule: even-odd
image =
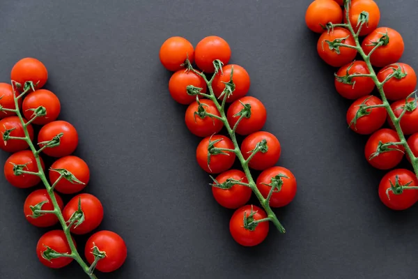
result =
[[206,82],[203,77],[193,73],[191,70],[178,70],[171,75],[169,80],[169,92],[171,98],[182,105],[189,105],[196,101],[196,96],[187,93],[187,86],[193,85],[201,88],[202,93],[206,93]]

